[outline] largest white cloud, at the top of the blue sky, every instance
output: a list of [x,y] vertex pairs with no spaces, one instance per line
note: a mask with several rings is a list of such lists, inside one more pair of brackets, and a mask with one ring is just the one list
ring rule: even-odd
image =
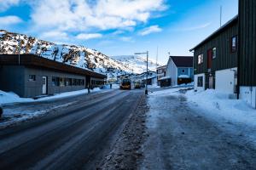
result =
[[32,21],[40,29],[61,31],[108,30],[147,22],[164,0],[41,0],[33,5]]

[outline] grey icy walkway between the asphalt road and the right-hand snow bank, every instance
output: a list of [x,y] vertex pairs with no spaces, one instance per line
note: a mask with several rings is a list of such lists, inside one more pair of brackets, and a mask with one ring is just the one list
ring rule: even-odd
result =
[[183,94],[150,94],[148,104],[141,169],[256,169],[256,145],[239,124],[208,116]]

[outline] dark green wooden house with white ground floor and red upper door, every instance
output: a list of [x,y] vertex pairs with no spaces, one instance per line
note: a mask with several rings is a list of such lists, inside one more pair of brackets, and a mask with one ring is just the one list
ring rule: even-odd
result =
[[238,16],[204,39],[194,51],[195,90],[237,91]]

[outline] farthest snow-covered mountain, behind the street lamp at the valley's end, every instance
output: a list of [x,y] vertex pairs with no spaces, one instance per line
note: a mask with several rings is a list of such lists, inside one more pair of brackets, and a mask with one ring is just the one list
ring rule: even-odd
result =
[[[133,68],[134,73],[142,73],[147,71],[147,57],[142,57],[138,55],[120,55],[113,56],[112,59],[118,60],[129,68]],[[160,66],[156,64],[154,59],[148,58],[148,70],[155,71],[156,67]]]

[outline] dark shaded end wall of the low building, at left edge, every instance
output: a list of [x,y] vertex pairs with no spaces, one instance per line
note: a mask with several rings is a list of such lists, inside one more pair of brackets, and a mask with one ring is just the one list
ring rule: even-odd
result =
[[0,66],[0,90],[14,92],[19,96],[25,94],[25,67],[23,65]]

